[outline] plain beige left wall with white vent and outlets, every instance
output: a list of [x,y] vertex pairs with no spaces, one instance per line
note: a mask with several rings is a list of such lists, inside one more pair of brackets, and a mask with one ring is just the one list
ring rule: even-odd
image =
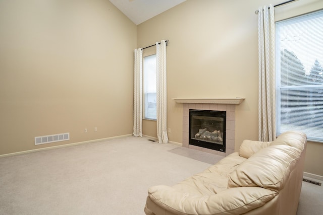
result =
[[135,48],[107,0],[0,0],[0,155],[132,133]]

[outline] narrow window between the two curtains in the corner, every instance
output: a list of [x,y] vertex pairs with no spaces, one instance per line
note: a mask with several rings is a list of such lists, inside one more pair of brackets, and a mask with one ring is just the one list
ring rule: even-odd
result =
[[156,120],[156,54],[143,58],[144,118]]

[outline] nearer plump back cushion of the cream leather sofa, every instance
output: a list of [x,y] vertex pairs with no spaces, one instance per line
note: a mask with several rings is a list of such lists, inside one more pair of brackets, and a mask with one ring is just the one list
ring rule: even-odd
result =
[[300,154],[301,150],[286,145],[264,148],[231,173],[228,187],[260,186],[279,191],[284,188]]

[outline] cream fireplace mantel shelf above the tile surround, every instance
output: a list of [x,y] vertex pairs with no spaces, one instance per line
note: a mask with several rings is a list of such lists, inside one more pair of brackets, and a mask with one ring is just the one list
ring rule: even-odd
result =
[[175,98],[177,103],[241,104],[245,98]]

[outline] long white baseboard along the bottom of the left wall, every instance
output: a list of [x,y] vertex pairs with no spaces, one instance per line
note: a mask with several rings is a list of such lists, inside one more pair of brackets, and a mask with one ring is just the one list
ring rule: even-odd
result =
[[59,149],[59,148],[63,148],[63,147],[71,147],[71,146],[76,146],[76,145],[81,145],[81,144],[89,144],[91,142],[98,142],[98,141],[103,141],[103,140],[108,140],[108,139],[118,139],[118,138],[122,138],[122,137],[126,137],[126,136],[132,136],[132,134],[112,136],[112,137],[93,139],[93,140],[88,140],[88,141],[83,141],[83,142],[74,142],[72,144],[65,144],[65,145],[60,145],[60,146],[45,147],[45,148],[41,148],[41,149],[34,149],[34,150],[27,150],[27,151],[22,151],[22,152],[9,153],[9,154],[0,155],[0,158],[13,156],[13,155],[22,155],[22,154],[27,154],[27,153],[45,151],[45,150]]

